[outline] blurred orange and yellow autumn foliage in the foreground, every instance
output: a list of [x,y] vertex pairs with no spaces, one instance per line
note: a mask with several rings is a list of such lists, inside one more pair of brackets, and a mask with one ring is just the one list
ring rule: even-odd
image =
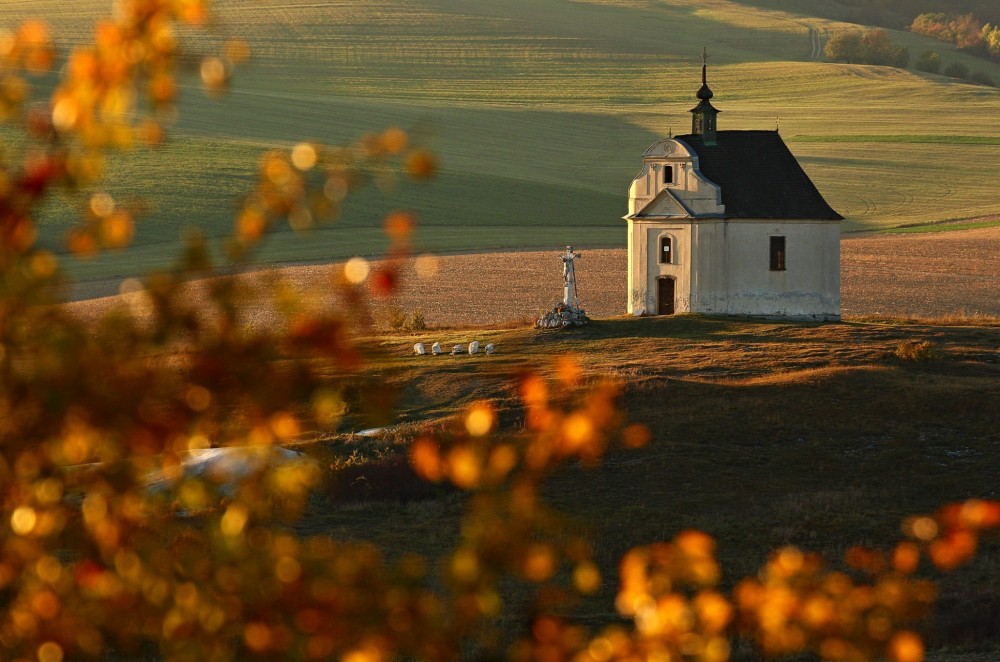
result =
[[[971,501],[905,523],[891,553],[853,548],[849,570],[781,549],[727,595],[714,542],[685,531],[629,551],[615,607],[621,624],[590,633],[566,614],[604,581],[586,537],[548,507],[546,477],[592,466],[612,444],[639,447],[648,430],[617,408],[620,385],[588,383],[560,359],[555,383],[526,374],[525,429],[498,430],[478,402],[409,449],[413,470],[468,493],[457,546],[443,559],[388,561],[370,544],[294,535],[317,463],[283,443],[334,427],[364,374],[353,338],[370,328],[368,294],[388,296],[409,254],[415,219],[385,221],[378,266],[348,263],[332,287],[347,314],[316,310],[287,284],[248,291],[219,275],[191,237],[176,269],[150,275],[135,303],[96,324],[58,304],[57,258],[35,243],[35,218],[55,194],[79,202],[67,236],[85,257],[126,246],[133,213],[100,190],[109,150],[155,145],[175,112],[180,33],[208,23],[203,0],[123,0],[91,46],[67,56],[51,97],[32,76],[54,66],[47,28],[0,36],[0,108],[28,136],[0,163],[0,647],[5,659],[59,662],[159,648],[168,659],[672,659],[721,662],[734,637],[771,655],[829,660],[922,659],[915,633],[934,587],[915,577],[968,561],[1000,503]],[[206,89],[222,92],[248,57],[240,42],[202,58]],[[357,188],[405,174],[430,177],[434,156],[391,128],[355,144],[300,143],[260,161],[225,268],[242,264],[280,223],[306,229],[336,215]],[[241,311],[271,298],[276,328]],[[360,383],[384,403],[377,380]],[[389,405],[380,405],[383,415]],[[187,470],[192,454],[231,451],[241,469]],[[155,478],[154,478],[155,477]],[[441,574],[437,570],[440,568]],[[527,628],[497,639],[504,587],[534,587]]]

